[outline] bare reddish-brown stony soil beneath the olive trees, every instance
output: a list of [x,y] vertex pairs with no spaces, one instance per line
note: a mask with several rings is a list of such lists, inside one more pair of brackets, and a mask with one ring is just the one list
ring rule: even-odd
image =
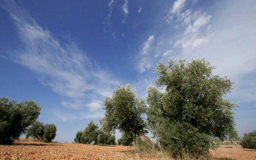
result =
[[[14,145],[0,145],[0,159],[159,159],[154,155],[133,154],[132,149],[119,145],[16,141]],[[235,145],[225,145],[211,151],[211,154],[219,160],[256,159],[256,150],[242,149]]]

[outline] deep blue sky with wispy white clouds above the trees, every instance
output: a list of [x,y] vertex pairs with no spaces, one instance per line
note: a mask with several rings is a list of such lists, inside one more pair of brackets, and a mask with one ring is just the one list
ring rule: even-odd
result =
[[35,100],[54,141],[71,143],[117,86],[145,98],[159,62],[206,58],[235,82],[243,137],[256,129],[255,17],[255,0],[3,0],[0,97]]

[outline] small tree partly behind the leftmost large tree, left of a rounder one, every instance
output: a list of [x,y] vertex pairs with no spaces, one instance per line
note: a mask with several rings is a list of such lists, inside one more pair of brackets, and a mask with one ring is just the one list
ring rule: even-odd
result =
[[27,130],[27,134],[25,138],[34,137],[36,139],[42,139],[44,135],[44,123],[40,123],[40,121],[35,121],[32,123],[31,127]]

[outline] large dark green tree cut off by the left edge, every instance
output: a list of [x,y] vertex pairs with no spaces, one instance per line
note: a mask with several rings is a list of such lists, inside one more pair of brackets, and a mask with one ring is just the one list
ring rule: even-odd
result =
[[19,135],[25,134],[40,114],[41,107],[33,100],[17,104],[15,100],[0,98],[0,143],[11,144]]

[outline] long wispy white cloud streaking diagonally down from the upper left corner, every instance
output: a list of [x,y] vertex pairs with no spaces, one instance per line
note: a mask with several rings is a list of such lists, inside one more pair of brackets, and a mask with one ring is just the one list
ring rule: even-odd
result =
[[103,96],[112,92],[119,82],[92,64],[70,38],[64,37],[64,43],[60,43],[14,1],[9,1],[4,8],[25,46],[19,56],[11,59],[36,72],[42,84],[64,97],[62,106],[91,111],[101,108]]

